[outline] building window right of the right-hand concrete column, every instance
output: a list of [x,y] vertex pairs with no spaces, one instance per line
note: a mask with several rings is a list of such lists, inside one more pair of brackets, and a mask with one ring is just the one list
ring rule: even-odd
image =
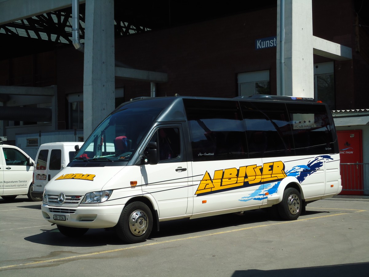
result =
[[333,62],[314,64],[314,98],[335,110]]

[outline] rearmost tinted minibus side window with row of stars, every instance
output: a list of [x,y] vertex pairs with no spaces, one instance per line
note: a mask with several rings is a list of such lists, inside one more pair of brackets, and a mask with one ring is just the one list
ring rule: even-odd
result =
[[325,105],[287,104],[296,155],[335,153],[335,131]]

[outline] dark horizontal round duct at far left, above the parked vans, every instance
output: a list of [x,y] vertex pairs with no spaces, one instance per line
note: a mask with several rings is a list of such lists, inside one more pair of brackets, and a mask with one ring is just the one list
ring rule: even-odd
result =
[[51,119],[49,108],[0,107],[0,120],[51,122]]

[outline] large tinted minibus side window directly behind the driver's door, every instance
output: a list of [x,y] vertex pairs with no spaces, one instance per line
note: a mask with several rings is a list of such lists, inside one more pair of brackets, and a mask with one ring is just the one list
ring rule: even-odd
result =
[[237,101],[183,99],[194,161],[247,158]]

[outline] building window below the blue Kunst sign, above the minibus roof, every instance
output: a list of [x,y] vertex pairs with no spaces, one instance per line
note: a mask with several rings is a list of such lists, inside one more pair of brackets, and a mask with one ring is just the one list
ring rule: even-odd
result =
[[238,73],[238,95],[270,95],[269,70]]

